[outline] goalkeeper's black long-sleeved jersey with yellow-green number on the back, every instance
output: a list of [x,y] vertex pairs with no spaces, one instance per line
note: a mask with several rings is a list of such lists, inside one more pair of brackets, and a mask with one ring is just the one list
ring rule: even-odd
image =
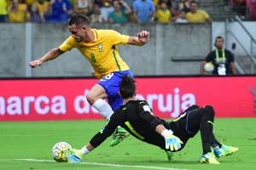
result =
[[121,126],[135,138],[165,149],[165,139],[155,131],[162,121],[154,116],[145,100],[130,100],[114,111],[108,124],[90,140],[90,144],[97,147],[113,134],[116,127]]

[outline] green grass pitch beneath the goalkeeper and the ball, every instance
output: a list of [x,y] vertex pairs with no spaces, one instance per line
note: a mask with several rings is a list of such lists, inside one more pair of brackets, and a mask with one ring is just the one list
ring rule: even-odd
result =
[[108,138],[79,164],[53,161],[52,146],[65,141],[80,149],[107,122],[49,121],[0,122],[0,169],[193,169],[227,170],[256,169],[256,118],[218,118],[214,122],[215,136],[221,143],[239,148],[232,156],[219,158],[219,165],[201,164],[201,138],[197,134],[186,147],[168,161],[158,147],[129,137],[115,147]]

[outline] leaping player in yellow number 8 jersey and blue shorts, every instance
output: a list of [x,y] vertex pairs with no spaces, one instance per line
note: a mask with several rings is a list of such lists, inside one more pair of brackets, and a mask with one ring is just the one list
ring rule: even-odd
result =
[[[29,65],[35,68],[72,48],[78,48],[81,54],[89,60],[96,77],[100,79],[90,89],[86,98],[90,105],[109,121],[113,111],[123,104],[123,99],[119,96],[119,82],[125,74],[133,77],[129,66],[120,58],[117,45],[143,46],[149,40],[149,32],[141,31],[137,37],[130,37],[113,30],[91,29],[89,20],[82,14],[73,15],[68,22],[68,29],[71,36],[59,48],[51,49],[41,59],[31,61]],[[108,103],[104,100],[107,98]],[[113,135],[113,141],[110,145],[119,144],[127,136],[129,133],[124,128],[119,127]]]

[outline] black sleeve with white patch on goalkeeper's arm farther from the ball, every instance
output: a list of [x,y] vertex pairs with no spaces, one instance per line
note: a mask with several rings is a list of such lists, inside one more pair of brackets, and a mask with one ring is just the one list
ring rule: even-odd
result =
[[162,124],[160,120],[154,116],[154,113],[152,112],[152,109],[148,105],[148,102],[143,100],[139,103],[138,106],[138,113],[141,116],[141,118],[148,122],[154,129],[158,125]]

